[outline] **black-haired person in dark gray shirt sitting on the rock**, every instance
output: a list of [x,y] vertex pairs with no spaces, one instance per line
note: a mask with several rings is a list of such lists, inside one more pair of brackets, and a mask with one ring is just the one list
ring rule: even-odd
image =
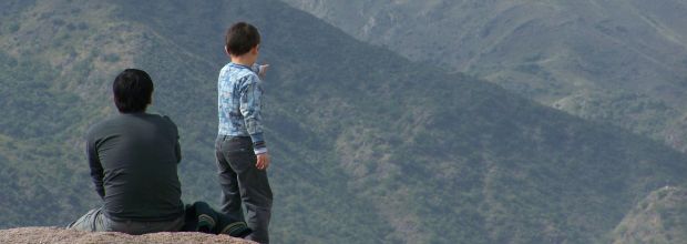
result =
[[207,204],[192,204],[185,211],[177,176],[182,155],[176,124],[145,112],[153,95],[151,77],[142,70],[124,70],[112,91],[120,113],[93,125],[85,138],[91,177],[103,205],[69,228],[145,234],[194,226],[233,236],[249,233],[245,223],[227,220]]

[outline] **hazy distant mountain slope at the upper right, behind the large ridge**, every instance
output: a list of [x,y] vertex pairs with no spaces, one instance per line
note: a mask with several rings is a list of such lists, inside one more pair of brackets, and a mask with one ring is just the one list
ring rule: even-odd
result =
[[[675,140],[687,125],[685,1],[283,1],[410,60],[466,72],[687,152]],[[619,93],[643,99],[617,101]],[[588,100],[623,108],[556,106]]]

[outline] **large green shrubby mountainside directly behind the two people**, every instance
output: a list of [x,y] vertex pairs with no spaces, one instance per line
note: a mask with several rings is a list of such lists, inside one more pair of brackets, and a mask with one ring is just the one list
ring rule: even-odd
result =
[[135,67],[180,126],[184,200],[217,204],[223,35],[263,33],[278,243],[607,243],[643,197],[684,186],[662,143],[445,73],[269,0],[0,3],[0,226],[99,204],[82,155]]

